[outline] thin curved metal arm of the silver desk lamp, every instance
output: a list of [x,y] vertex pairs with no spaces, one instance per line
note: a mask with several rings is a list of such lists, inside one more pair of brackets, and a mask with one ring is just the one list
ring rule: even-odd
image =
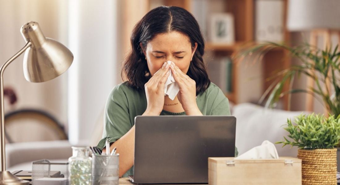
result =
[[32,45],[30,41],[26,43],[26,45],[18,52],[16,53],[13,57],[8,59],[0,68],[0,105],[1,105],[1,110],[0,110],[0,133],[1,133],[1,138],[0,138],[0,148],[1,148],[1,171],[6,170],[6,164],[5,164],[5,123],[4,123],[4,106],[3,106],[3,72],[13,60],[15,60],[18,56],[20,56],[24,51],[27,50]]

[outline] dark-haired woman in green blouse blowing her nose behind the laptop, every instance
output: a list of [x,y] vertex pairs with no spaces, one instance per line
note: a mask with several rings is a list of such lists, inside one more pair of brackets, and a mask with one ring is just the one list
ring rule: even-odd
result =
[[[230,115],[228,99],[208,78],[202,33],[188,11],[175,6],[151,10],[135,25],[131,45],[122,71],[128,81],[109,94],[97,146],[103,149],[108,138],[110,150],[117,147],[119,177],[133,175],[135,116]],[[164,95],[169,70],[180,88],[173,100]]]

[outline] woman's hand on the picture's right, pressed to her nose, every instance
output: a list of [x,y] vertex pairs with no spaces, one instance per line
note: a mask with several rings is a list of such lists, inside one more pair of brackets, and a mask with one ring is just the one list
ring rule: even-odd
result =
[[187,115],[202,115],[196,103],[196,82],[182,70],[171,62],[170,69],[173,78],[180,87],[177,94],[178,100],[181,102],[182,107]]

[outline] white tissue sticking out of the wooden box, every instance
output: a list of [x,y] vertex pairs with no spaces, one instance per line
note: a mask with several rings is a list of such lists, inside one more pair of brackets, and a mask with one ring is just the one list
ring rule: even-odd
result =
[[278,159],[278,154],[275,145],[266,140],[235,159]]

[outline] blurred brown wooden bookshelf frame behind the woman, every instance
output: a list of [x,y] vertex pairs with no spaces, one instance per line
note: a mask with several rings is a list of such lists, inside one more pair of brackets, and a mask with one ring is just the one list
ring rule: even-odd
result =
[[[226,5],[224,8],[226,13],[232,13],[234,16],[234,26],[235,26],[235,43],[234,44],[216,44],[209,41],[206,42],[205,50],[206,52],[212,52],[216,56],[232,56],[237,52],[242,45],[249,42],[254,42],[254,24],[255,24],[255,1],[256,0],[223,0]],[[179,6],[183,7],[189,12],[191,12],[192,3],[194,0],[147,0],[149,4],[149,10],[151,10],[155,5],[153,3],[157,2],[158,5],[167,6]],[[284,42],[289,42],[289,32],[286,29],[286,14],[287,14],[287,0],[283,0],[284,4]],[[291,65],[290,58],[287,57],[287,53],[284,50],[275,49],[268,52],[263,57],[263,69],[262,69],[262,93],[270,86],[272,81],[267,81],[266,78],[271,77],[274,72],[282,69],[286,69]],[[239,65],[237,64],[237,59],[233,61],[232,66],[232,91],[225,93],[229,101],[237,104],[242,102],[239,98],[239,92],[244,89],[240,89],[239,80]],[[236,63],[236,64],[235,64]],[[286,89],[288,86],[285,87]],[[288,98],[285,96],[282,99],[282,105],[284,109],[288,109]]]

